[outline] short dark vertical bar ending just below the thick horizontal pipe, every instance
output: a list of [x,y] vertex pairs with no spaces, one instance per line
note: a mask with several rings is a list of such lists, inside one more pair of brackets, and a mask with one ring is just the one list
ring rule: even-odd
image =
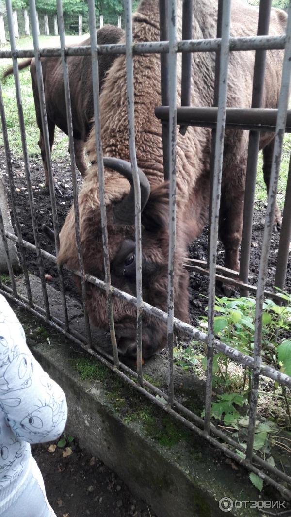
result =
[[[183,0],[182,40],[192,39],[192,0]],[[191,105],[192,53],[182,53],[181,106]],[[180,133],[186,134],[186,125],[180,126]]]

